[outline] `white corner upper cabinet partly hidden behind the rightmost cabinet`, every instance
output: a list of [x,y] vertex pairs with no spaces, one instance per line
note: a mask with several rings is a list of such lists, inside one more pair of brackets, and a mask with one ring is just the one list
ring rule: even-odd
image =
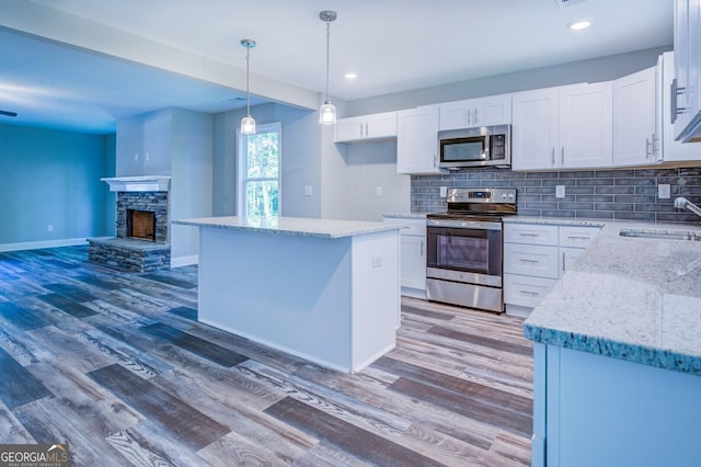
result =
[[[662,65],[662,66],[660,66]],[[660,56],[662,83],[658,89],[662,94],[662,140],[663,159],[665,162],[679,162],[687,160],[701,160],[701,144],[687,144],[675,140],[675,127],[671,123],[671,95],[673,81],[675,78],[674,53],[665,52]]]

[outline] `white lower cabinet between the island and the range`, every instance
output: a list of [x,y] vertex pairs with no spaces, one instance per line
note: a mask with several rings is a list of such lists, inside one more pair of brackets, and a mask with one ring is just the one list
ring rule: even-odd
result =
[[426,219],[386,217],[384,221],[404,226],[400,230],[402,295],[426,298]]

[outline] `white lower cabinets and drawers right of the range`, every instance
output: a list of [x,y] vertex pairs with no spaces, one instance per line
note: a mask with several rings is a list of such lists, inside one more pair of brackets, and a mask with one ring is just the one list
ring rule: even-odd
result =
[[504,303],[509,315],[528,315],[554,287],[599,227],[504,225]]

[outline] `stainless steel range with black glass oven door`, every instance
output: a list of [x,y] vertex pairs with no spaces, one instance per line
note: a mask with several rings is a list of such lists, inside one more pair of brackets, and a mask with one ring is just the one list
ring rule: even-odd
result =
[[426,295],[504,311],[502,217],[516,214],[515,189],[450,189],[448,212],[426,216]]

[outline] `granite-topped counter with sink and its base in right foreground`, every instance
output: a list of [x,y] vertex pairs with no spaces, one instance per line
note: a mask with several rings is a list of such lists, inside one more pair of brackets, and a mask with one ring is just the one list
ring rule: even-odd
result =
[[701,465],[701,230],[595,224],[525,321],[532,465]]

